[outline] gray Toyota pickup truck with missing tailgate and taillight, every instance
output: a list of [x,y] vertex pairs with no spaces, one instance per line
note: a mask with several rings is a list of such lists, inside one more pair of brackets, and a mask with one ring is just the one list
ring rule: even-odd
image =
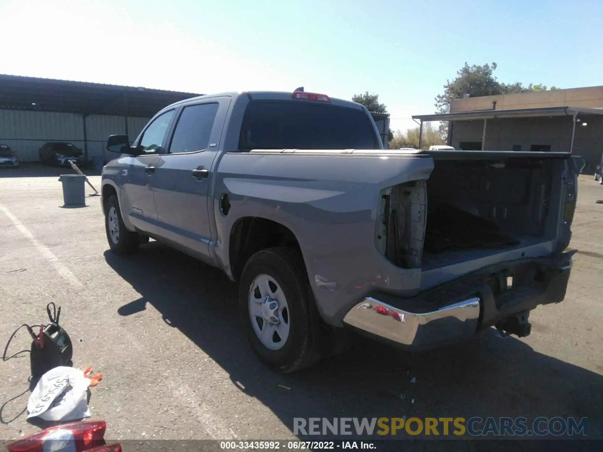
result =
[[297,91],[177,102],[107,149],[122,154],[103,168],[111,250],[153,237],[223,269],[281,372],[346,328],[409,351],[527,336],[529,312],[565,297],[567,153],[385,150],[362,105]]

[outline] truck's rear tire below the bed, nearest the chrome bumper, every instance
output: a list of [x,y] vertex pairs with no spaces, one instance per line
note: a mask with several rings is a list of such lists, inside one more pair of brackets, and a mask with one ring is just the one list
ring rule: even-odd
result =
[[[268,299],[270,295],[274,298]],[[239,315],[253,351],[267,366],[288,373],[320,359],[315,309],[306,268],[297,251],[268,248],[250,257],[239,284]]]

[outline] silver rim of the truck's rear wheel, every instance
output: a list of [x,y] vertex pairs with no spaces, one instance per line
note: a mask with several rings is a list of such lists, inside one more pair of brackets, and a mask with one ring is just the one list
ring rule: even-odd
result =
[[257,275],[249,287],[248,307],[257,339],[270,350],[283,348],[289,337],[291,315],[279,283],[268,275]]

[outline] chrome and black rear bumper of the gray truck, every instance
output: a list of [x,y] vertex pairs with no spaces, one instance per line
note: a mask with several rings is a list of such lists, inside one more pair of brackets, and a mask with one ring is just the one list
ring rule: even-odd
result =
[[343,321],[409,351],[463,341],[539,304],[562,301],[572,254],[498,264],[412,299],[367,297]]

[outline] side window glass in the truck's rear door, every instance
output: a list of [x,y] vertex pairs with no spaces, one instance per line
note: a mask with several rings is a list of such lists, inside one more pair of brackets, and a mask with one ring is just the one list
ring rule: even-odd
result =
[[207,149],[212,133],[213,120],[219,104],[198,104],[185,107],[169,146],[169,153],[195,152]]

